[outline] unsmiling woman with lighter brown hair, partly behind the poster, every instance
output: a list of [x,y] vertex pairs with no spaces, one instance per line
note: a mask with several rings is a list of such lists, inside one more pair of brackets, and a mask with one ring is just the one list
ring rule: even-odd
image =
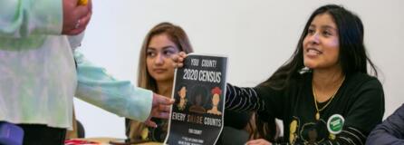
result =
[[[170,97],[174,82],[171,56],[179,52],[192,53],[188,35],[175,24],[157,24],[146,35],[139,53],[138,86]],[[179,102],[179,100],[177,101]],[[126,134],[130,140],[162,142],[168,131],[168,121],[152,119],[157,128],[147,127],[140,121],[126,120]]]

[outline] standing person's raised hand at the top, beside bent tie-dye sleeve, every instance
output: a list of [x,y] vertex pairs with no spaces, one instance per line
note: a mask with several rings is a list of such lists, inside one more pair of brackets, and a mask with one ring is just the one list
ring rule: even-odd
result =
[[62,34],[82,33],[91,19],[91,0],[63,0]]

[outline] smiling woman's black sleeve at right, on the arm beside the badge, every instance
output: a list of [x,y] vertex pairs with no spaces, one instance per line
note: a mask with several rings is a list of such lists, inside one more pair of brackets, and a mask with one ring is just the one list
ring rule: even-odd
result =
[[372,79],[364,82],[351,96],[353,102],[346,113],[341,133],[325,144],[365,144],[370,131],[378,125],[384,113],[384,93],[380,82]]

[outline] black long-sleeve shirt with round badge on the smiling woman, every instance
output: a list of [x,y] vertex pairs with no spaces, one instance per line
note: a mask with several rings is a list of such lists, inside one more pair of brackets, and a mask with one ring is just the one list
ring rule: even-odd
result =
[[[291,144],[365,144],[370,131],[381,122],[384,113],[384,92],[380,82],[364,73],[346,76],[332,100],[317,102],[321,118],[315,119],[312,73],[303,73],[283,90],[259,85],[226,88],[226,109],[257,111],[284,121],[284,143]],[[342,131],[331,133],[327,121],[340,114]],[[331,121],[332,122],[332,121]]]

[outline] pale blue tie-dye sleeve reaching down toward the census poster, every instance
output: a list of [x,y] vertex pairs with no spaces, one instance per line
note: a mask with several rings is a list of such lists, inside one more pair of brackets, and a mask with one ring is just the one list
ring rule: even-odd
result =
[[151,111],[153,92],[134,87],[130,81],[117,81],[101,67],[74,51],[78,85],[76,97],[106,111],[136,121],[146,121]]

